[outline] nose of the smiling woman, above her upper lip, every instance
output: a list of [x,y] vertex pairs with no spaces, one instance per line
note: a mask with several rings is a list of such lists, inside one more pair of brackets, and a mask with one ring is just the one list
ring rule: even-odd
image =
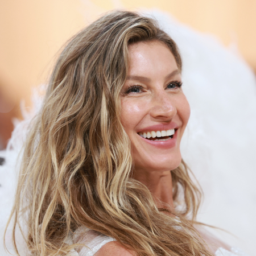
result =
[[151,101],[151,117],[156,121],[170,121],[177,113],[172,95],[166,90],[154,93]]

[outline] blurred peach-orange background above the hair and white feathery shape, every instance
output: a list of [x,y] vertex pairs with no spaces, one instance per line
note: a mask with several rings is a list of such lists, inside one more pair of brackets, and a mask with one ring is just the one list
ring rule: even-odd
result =
[[234,48],[256,71],[255,0],[1,0],[0,150],[31,88],[47,82],[57,51],[77,31],[114,9],[158,9]]

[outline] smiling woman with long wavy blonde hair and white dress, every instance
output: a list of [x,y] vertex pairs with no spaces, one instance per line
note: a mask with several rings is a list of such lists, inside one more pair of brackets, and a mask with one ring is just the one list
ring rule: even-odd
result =
[[72,38],[12,214],[32,255],[213,255],[222,244],[196,229],[200,192],[180,155],[188,118],[179,52],[154,20],[115,11]]

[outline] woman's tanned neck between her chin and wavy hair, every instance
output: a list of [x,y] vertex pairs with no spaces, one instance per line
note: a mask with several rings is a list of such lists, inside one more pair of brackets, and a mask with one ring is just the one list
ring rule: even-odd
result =
[[171,171],[135,172],[134,178],[150,190],[158,208],[173,209]]

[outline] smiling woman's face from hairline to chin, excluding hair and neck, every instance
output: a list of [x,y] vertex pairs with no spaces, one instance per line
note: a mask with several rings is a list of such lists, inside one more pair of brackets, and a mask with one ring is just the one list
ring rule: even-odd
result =
[[170,49],[159,41],[131,44],[121,121],[135,171],[170,171],[181,162],[180,140],[190,108]]

